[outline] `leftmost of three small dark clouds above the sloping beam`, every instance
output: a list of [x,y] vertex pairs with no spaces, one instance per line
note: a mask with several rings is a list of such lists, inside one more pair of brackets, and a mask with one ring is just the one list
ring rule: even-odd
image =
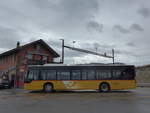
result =
[[90,21],[87,23],[87,29],[88,31],[96,31],[96,32],[102,33],[103,24],[100,24],[96,21]]

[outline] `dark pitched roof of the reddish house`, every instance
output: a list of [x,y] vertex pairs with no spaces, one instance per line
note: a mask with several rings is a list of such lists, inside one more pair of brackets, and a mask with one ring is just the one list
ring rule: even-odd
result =
[[54,51],[54,50],[53,50],[46,42],[44,42],[42,39],[36,40],[36,41],[33,41],[33,42],[30,42],[30,43],[25,44],[25,45],[23,45],[23,46],[19,46],[19,48],[16,47],[16,48],[13,48],[13,49],[11,49],[11,50],[8,50],[8,51],[6,51],[6,52],[4,52],[4,53],[1,53],[1,54],[0,54],[0,57],[8,56],[8,55],[13,54],[13,53],[17,53],[18,51],[24,49],[25,47],[28,47],[28,46],[33,45],[33,44],[36,44],[36,43],[41,43],[43,46],[45,46],[45,47],[54,55],[54,57],[60,57],[59,54],[58,54],[56,51]]

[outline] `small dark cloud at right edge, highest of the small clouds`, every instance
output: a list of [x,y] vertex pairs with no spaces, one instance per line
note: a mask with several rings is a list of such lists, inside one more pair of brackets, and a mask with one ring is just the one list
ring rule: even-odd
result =
[[150,16],[150,9],[146,7],[142,7],[137,11],[137,13],[143,16],[144,18],[147,18]]

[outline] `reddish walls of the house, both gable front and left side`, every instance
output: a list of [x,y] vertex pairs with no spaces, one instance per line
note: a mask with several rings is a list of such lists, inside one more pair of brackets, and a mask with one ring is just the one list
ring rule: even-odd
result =
[[[31,56],[32,59],[30,59]],[[16,54],[1,58],[0,73],[7,72],[10,79],[14,79],[14,84],[16,87],[23,87],[24,76],[27,72],[28,65],[32,62],[34,65],[39,62],[43,63],[43,59],[47,59],[47,61],[44,61],[45,63],[53,62],[53,54],[40,43],[30,45],[24,49],[21,49]],[[12,78],[12,76],[14,77]]]

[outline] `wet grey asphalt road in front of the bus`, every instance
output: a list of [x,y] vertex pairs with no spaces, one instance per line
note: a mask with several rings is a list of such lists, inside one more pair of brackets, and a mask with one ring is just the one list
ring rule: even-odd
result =
[[150,88],[50,94],[0,90],[0,113],[150,113]]

